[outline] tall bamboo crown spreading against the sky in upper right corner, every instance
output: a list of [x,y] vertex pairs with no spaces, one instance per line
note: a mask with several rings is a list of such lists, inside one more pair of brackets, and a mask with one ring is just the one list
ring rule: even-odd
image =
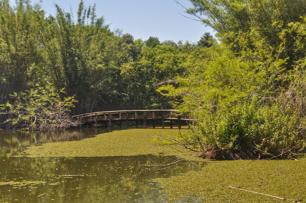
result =
[[[287,44],[279,49],[279,35],[291,22],[301,22],[306,2],[300,0],[190,0],[192,8],[187,13],[216,30],[220,40],[233,51],[245,54],[261,49],[287,60],[286,69],[293,68],[293,61],[304,57],[296,50],[287,35]],[[256,51],[255,51],[256,52]]]

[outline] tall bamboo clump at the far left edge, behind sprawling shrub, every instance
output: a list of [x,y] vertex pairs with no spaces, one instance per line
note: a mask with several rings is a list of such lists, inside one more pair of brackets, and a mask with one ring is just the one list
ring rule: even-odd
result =
[[0,103],[12,101],[7,95],[41,80],[42,33],[37,28],[43,19],[44,12],[37,4],[17,1],[13,8],[8,0],[0,1]]

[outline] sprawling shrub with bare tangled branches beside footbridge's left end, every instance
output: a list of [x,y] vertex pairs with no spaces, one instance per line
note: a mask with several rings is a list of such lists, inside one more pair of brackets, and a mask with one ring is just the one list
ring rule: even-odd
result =
[[7,128],[38,130],[76,126],[76,121],[69,116],[76,100],[74,97],[61,99],[63,93],[63,89],[56,92],[50,83],[46,87],[37,84],[34,89],[11,95],[15,102],[0,105],[0,114],[6,115]]

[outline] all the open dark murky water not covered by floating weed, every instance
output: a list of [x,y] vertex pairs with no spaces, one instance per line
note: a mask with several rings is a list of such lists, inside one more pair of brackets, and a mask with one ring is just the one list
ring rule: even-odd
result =
[[28,146],[80,140],[103,132],[109,129],[0,130],[0,202],[167,202],[153,179],[198,171],[205,164],[162,154],[16,157]]

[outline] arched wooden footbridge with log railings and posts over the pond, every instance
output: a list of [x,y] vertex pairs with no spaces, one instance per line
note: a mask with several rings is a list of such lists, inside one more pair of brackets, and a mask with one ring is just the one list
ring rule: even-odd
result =
[[[123,110],[123,111],[103,111],[95,113],[85,113],[77,116],[72,116],[74,119],[79,120],[81,126],[83,125],[95,125],[104,124],[105,127],[122,127],[122,122],[125,123],[125,127],[129,128],[131,124],[135,123],[136,128],[138,124],[142,124],[144,128],[152,126],[155,128],[156,124],[160,124],[162,128],[166,124],[173,128],[173,125],[177,125],[180,129],[182,124],[187,125],[194,120],[181,116],[177,113],[177,110]],[[114,123],[119,125],[113,125]]]

